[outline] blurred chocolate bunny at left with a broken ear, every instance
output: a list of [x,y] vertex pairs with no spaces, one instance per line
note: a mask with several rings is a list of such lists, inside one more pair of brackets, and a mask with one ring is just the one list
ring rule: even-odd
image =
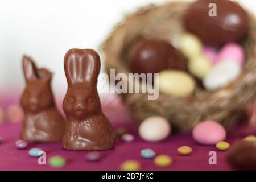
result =
[[21,98],[24,110],[21,138],[30,142],[62,140],[65,122],[53,99],[52,73],[36,68],[27,56],[23,56],[23,71],[27,85]]

